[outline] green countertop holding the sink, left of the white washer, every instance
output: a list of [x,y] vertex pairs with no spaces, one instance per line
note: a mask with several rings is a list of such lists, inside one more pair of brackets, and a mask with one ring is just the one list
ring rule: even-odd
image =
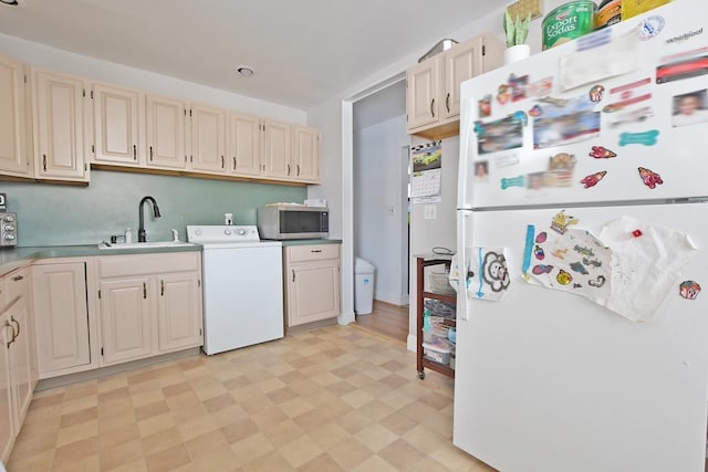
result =
[[96,244],[81,245],[43,245],[25,248],[3,248],[0,250],[0,275],[27,265],[37,259],[54,258],[91,258],[96,255],[148,254],[165,252],[201,251],[201,244],[181,248],[146,248],[146,249],[98,249]]

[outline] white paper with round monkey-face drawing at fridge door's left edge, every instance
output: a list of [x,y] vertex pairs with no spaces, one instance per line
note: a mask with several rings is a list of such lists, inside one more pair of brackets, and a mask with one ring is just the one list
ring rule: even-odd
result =
[[456,254],[450,266],[450,285],[459,292],[459,282],[465,280],[468,298],[502,300],[511,284],[507,252],[506,248],[468,248],[465,251],[466,268],[460,268]]

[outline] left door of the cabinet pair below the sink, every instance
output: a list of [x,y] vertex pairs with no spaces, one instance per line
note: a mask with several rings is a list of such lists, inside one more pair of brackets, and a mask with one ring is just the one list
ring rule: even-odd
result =
[[148,277],[101,281],[102,365],[140,359],[153,353]]

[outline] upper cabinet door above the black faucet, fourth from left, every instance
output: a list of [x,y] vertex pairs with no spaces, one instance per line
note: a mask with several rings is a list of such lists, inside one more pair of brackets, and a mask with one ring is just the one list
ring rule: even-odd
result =
[[176,98],[147,95],[147,166],[184,169],[186,104]]

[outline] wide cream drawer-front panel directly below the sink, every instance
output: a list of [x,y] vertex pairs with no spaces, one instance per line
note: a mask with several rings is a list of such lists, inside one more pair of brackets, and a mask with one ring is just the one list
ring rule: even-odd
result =
[[160,254],[106,255],[98,258],[98,277],[152,275],[167,272],[199,271],[200,252],[166,252]]

